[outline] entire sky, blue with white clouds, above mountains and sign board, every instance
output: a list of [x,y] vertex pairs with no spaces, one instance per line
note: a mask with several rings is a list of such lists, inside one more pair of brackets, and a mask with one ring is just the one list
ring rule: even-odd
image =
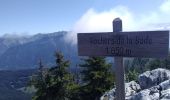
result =
[[112,31],[116,17],[124,30],[166,28],[169,12],[170,0],[0,0],[0,35]]

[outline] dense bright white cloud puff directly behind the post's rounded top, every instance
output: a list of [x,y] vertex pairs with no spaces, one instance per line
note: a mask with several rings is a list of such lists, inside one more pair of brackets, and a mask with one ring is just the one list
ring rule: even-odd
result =
[[80,18],[80,20],[76,22],[73,31],[112,31],[112,21],[116,17],[120,17],[122,20],[124,20],[125,26],[126,23],[132,23],[131,13],[123,6],[103,12],[96,12],[91,8]]

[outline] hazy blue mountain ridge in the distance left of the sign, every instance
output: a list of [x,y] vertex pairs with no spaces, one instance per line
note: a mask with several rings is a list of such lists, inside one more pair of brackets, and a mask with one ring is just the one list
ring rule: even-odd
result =
[[55,51],[61,51],[66,59],[78,62],[77,48],[65,42],[66,31],[36,34],[28,37],[0,38],[0,69],[35,68],[41,59],[44,64],[55,63]]

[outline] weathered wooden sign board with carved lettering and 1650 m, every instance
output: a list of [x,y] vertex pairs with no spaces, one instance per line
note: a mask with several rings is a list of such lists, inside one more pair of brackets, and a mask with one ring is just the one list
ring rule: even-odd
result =
[[78,33],[79,56],[167,57],[169,31]]

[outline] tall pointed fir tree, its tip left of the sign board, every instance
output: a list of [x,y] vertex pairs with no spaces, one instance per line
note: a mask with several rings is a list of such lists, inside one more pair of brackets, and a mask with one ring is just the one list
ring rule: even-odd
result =
[[56,66],[50,69],[51,86],[51,100],[66,100],[70,97],[70,91],[73,85],[73,77],[68,71],[70,65],[68,60],[64,60],[61,52],[57,52]]

